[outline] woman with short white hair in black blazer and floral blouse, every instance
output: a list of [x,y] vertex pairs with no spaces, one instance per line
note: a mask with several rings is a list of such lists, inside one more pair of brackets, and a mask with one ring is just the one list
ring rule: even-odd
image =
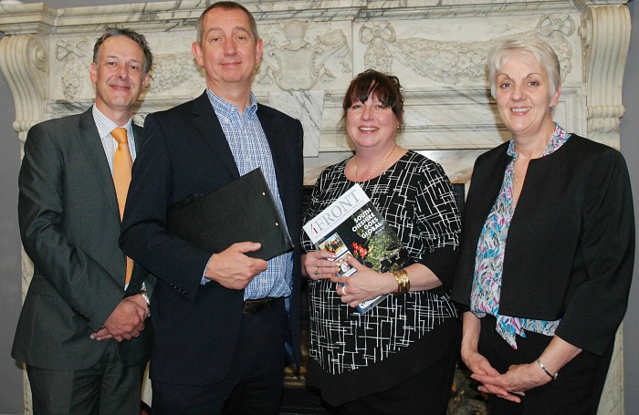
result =
[[461,354],[491,414],[594,414],[634,263],[630,181],[617,150],[552,120],[560,64],[537,38],[488,57],[512,140],[477,159],[453,298]]

